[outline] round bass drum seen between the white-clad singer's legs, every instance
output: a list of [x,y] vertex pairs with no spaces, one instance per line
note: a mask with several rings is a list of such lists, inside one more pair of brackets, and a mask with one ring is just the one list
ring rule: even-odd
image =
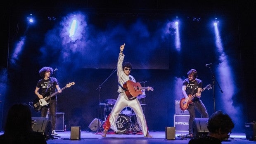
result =
[[117,127],[116,133],[118,134],[126,133],[129,130],[130,125],[131,125],[130,117],[120,113],[116,120],[116,127]]

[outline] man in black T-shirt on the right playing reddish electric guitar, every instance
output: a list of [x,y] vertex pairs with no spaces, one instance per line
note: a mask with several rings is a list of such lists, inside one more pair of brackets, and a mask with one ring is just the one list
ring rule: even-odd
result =
[[[202,118],[209,118],[207,110],[203,102],[200,100],[202,86],[203,86],[203,82],[202,80],[197,78],[197,71],[195,69],[191,69],[190,71],[188,71],[187,78],[183,80],[183,86],[182,86],[182,93],[183,93],[183,96],[185,97],[185,101],[180,102],[180,104],[185,104],[185,105],[188,104],[187,110],[190,113],[190,118],[188,121],[188,126],[189,126],[188,132],[190,137],[193,137],[192,124],[193,124],[194,118],[196,117],[195,109],[197,109],[197,111],[201,114]],[[192,99],[192,95],[194,96],[193,99]]]

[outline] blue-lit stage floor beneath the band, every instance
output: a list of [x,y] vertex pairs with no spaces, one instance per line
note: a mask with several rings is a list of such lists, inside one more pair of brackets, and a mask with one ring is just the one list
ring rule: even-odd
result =
[[[70,139],[71,131],[57,133],[58,137],[48,139],[47,144],[187,144],[191,139],[180,137],[187,135],[187,132],[175,132],[174,140],[165,139],[165,131],[149,131],[152,138],[136,134],[107,134],[107,137],[102,137],[100,133],[81,131],[81,137],[77,140]],[[256,141],[246,139],[245,133],[232,133],[230,139],[222,144],[256,144]]]

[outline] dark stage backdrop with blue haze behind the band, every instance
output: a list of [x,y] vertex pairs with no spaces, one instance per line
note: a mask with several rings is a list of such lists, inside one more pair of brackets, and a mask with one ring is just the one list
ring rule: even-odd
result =
[[[126,43],[125,61],[132,62],[134,66],[131,74],[137,82],[147,81],[145,86],[154,87],[153,92],[146,92],[146,97],[141,99],[142,104],[147,104],[142,108],[150,130],[164,130],[166,126],[173,126],[174,102],[182,98],[180,80],[186,78],[188,70],[197,69],[204,85],[212,84],[211,71],[205,66],[212,63],[212,70],[220,88],[234,87],[232,98],[229,100],[232,104],[222,102],[223,94],[217,84],[214,93],[213,90],[205,91],[201,99],[210,115],[214,112],[214,105],[216,110],[227,112],[235,120],[235,111],[228,110],[239,111],[238,116],[241,118],[235,121],[235,129],[241,131],[244,123],[256,120],[256,114],[250,112],[255,109],[256,101],[253,84],[256,74],[255,28],[252,23],[255,20],[254,6],[253,0],[236,0],[232,3],[154,0],[129,1],[124,4],[119,1],[91,0],[73,4],[57,1],[10,1],[8,5],[1,6],[2,19],[8,21],[1,24],[4,38],[1,46],[0,127],[4,125],[7,110],[12,104],[28,104],[36,98],[34,89],[40,79],[38,71],[43,66],[58,68],[54,76],[59,80],[61,87],[75,82],[75,85],[58,94],[57,110],[66,113],[65,124],[68,129],[71,126],[81,126],[83,130],[88,130],[88,125],[94,118],[104,120],[104,107],[99,104],[118,96],[116,73],[110,75],[116,66],[119,46]],[[87,54],[77,55],[72,50],[66,51],[66,47],[62,45],[63,41],[59,39],[62,36],[59,35],[58,26],[62,25],[62,19],[69,12],[76,11],[87,16],[89,30],[86,29],[86,32],[90,32],[90,38],[83,39],[92,42],[86,41],[90,45],[78,45],[83,51],[83,48],[87,47],[90,50]],[[36,26],[27,26],[24,20],[26,14],[31,12],[35,12],[39,18]],[[175,50],[174,31],[164,38],[159,36],[159,28],[172,21],[176,15],[182,21],[180,52]],[[57,20],[48,21],[48,16],[54,16]],[[193,17],[200,17],[201,20],[193,21]],[[210,20],[215,17],[221,21],[220,35],[225,54],[228,56],[229,73],[232,74],[232,80],[227,78],[227,81],[232,81],[232,85],[223,81],[225,78],[218,69],[221,61],[216,52],[213,28],[210,26]],[[118,29],[120,25],[123,28]],[[137,33],[131,32],[136,26]],[[141,31],[149,32],[145,34],[149,36],[144,38]],[[112,36],[113,33],[118,34]],[[49,37],[49,34],[54,35],[56,39]],[[12,63],[14,48],[24,35],[25,45],[19,59]],[[99,36],[107,41],[102,41],[103,38],[99,41]],[[83,44],[82,42],[80,44]],[[64,53],[69,56],[64,57]],[[227,91],[223,91],[225,95]],[[40,113],[36,113],[32,108],[31,111],[33,117],[40,116]]]

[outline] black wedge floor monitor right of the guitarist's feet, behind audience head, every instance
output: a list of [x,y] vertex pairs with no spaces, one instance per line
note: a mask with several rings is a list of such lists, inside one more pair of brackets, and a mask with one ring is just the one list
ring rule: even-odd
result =
[[195,118],[192,124],[193,138],[198,139],[208,135],[207,121],[209,118]]

